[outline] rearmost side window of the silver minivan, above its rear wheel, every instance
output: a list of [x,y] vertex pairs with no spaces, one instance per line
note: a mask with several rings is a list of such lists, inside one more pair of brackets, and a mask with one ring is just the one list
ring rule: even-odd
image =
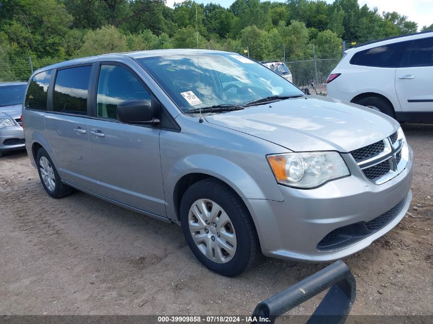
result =
[[30,81],[27,90],[25,107],[30,109],[47,110],[47,93],[52,70],[36,74]]

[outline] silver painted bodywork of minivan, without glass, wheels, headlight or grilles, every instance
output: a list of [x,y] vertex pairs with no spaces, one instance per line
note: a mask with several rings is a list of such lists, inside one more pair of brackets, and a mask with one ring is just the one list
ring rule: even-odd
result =
[[[136,126],[97,118],[24,109],[26,147],[33,165],[33,145],[50,154],[66,183],[135,211],[179,223],[176,184],[190,174],[204,174],[231,186],[254,220],[265,255],[306,261],[331,261],[368,246],[393,228],[410,203],[413,157],[398,175],[377,185],[362,173],[350,150],[382,140],[399,124],[381,113],[335,99],[308,96],[243,111],[198,117],[182,114],[159,85],[133,60],[163,50],[109,54],[44,68],[115,61],[127,64],[149,87],[180,131]],[[40,71],[36,71],[38,73]],[[85,134],[76,134],[80,126]],[[91,131],[105,134],[96,138]],[[268,154],[336,150],[351,175],[314,189],[278,185]],[[348,247],[321,252],[317,243],[329,231],[367,222],[405,199],[394,220]],[[368,203],[367,203],[368,202]]]

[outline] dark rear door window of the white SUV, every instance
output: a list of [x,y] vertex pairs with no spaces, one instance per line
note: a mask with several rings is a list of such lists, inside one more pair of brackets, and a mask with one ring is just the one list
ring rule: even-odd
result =
[[401,41],[360,51],[350,59],[350,64],[366,67],[397,68],[410,41]]

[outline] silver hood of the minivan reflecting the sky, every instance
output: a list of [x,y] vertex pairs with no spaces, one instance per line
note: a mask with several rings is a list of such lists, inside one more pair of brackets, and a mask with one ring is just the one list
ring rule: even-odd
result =
[[350,152],[384,139],[399,126],[393,118],[372,109],[316,95],[210,115],[205,119],[295,152]]

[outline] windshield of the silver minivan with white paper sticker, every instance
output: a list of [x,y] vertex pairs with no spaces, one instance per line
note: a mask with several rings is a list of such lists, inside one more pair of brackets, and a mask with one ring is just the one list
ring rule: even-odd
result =
[[[302,91],[262,64],[233,53],[167,54],[136,59],[183,111],[221,104],[244,105]],[[199,81],[200,78],[200,81]]]

